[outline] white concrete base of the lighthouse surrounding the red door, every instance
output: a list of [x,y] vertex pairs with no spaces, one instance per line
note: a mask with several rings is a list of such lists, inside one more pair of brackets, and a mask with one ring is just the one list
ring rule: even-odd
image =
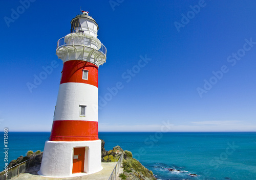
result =
[[[75,147],[86,147],[84,172],[72,173]],[[74,177],[102,170],[101,140],[46,141],[39,175],[48,177]]]

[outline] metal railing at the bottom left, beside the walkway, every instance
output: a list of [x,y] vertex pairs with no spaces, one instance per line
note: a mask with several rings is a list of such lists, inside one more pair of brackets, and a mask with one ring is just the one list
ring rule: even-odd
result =
[[19,163],[7,170],[7,175],[5,171],[0,172],[0,180],[7,180],[14,176],[18,176],[21,173],[24,173],[26,170],[28,170],[30,167],[34,166],[35,163],[31,163],[30,161],[35,159],[35,157],[32,157],[22,163]]

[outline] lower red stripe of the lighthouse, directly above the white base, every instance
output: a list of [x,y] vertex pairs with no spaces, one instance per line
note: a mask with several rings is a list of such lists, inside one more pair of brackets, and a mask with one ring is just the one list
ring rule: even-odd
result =
[[98,122],[96,121],[53,121],[50,141],[92,141],[98,139]]

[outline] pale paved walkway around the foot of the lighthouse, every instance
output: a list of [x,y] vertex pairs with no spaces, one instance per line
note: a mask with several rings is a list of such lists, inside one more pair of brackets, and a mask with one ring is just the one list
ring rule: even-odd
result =
[[12,177],[11,180],[108,180],[110,175],[116,166],[116,163],[101,163],[103,169],[99,172],[89,175],[83,175],[79,177],[66,177],[66,178],[56,178],[56,177],[43,177],[37,174],[37,171],[40,169],[40,165],[28,172],[19,174],[19,176]]

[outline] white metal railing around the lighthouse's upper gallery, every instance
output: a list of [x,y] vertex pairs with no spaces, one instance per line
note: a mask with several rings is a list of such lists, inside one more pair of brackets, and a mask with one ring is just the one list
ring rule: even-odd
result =
[[92,36],[80,33],[71,33],[62,37],[57,42],[57,49],[64,46],[87,46],[98,50],[106,56],[106,47]]

